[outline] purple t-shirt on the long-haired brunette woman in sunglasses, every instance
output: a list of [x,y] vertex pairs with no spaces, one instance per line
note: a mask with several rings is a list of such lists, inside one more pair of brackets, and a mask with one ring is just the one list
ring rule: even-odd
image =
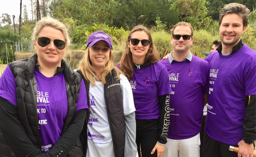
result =
[[166,67],[156,62],[151,66],[142,69],[133,68],[133,70],[130,84],[136,119],[158,119],[160,117],[158,96],[171,92]]

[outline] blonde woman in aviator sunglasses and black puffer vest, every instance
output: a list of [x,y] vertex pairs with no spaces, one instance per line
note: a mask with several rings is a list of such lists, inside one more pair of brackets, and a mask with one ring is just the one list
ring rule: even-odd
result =
[[32,38],[37,53],[10,63],[0,80],[0,156],[81,157],[88,105],[80,74],[62,59],[67,29],[44,17]]

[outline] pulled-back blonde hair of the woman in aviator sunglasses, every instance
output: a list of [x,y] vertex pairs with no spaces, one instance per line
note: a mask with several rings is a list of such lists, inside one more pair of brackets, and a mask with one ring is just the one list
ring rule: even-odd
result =
[[32,32],[32,39],[36,40],[38,33],[46,26],[50,26],[52,28],[58,29],[63,33],[65,42],[67,45],[67,51],[69,51],[70,37],[68,36],[67,28],[66,28],[65,24],[63,24],[62,22],[60,22],[52,17],[43,17],[41,20],[39,20],[36,23],[35,28],[33,29],[33,32]]

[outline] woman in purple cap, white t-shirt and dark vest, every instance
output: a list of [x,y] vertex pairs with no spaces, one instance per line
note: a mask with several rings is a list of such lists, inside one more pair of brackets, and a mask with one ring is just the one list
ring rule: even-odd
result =
[[109,35],[92,33],[78,72],[86,84],[89,111],[83,129],[86,157],[135,157],[135,107],[127,78],[113,65]]

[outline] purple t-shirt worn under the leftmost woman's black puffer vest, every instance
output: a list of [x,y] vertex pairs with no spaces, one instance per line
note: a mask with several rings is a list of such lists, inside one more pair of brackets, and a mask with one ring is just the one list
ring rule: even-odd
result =
[[[35,69],[37,82],[37,113],[42,153],[51,150],[61,136],[67,115],[67,93],[64,74],[46,77]],[[17,106],[15,78],[7,66],[0,79],[0,97]],[[88,109],[85,83],[81,89],[76,111]]]

